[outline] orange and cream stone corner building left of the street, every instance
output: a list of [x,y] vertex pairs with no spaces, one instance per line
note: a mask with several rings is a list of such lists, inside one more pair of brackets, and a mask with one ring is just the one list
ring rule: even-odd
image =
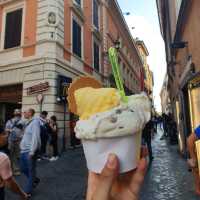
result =
[[116,44],[124,84],[137,93],[142,62],[115,0],[0,0],[0,123],[31,107],[55,114],[69,136],[67,86],[80,75],[109,85]]

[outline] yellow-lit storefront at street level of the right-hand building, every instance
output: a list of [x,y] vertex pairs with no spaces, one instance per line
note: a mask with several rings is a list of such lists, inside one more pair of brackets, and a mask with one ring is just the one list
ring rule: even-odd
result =
[[200,74],[186,76],[176,99],[179,149],[187,152],[187,138],[200,124]]

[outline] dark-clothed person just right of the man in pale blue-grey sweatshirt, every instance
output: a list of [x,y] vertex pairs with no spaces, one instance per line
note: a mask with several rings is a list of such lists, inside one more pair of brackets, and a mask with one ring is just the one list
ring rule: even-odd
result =
[[41,151],[40,157],[42,159],[47,159],[46,148],[47,142],[49,140],[49,124],[47,122],[47,111],[42,111],[40,113],[39,121],[40,121],[40,137],[41,137]]

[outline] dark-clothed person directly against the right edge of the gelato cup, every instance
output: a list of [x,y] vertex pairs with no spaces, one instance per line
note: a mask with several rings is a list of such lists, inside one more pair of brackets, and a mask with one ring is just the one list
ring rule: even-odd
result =
[[144,143],[147,145],[150,161],[152,161],[154,159],[153,153],[152,153],[152,146],[151,146],[151,139],[152,139],[153,131],[154,131],[154,122],[152,121],[152,119],[150,119],[142,131],[142,139],[143,139]]

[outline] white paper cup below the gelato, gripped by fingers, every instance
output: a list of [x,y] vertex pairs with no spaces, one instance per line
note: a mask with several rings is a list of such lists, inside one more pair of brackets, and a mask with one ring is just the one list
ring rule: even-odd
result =
[[120,173],[137,167],[140,158],[141,134],[131,136],[83,140],[83,149],[90,171],[101,173],[110,153],[117,155],[120,162]]

